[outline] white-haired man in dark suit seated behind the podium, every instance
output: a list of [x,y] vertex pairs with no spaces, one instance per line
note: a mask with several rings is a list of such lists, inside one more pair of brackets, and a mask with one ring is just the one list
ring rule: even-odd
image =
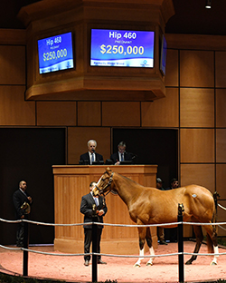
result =
[[80,155],[80,164],[91,165],[93,161],[104,161],[103,156],[96,152],[97,142],[89,140],[87,142],[88,152]]

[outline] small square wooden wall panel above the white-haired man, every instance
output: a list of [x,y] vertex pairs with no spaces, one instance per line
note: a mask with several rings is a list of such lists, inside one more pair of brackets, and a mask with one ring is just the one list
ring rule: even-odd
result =
[[78,126],[100,126],[100,102],[78,102]]

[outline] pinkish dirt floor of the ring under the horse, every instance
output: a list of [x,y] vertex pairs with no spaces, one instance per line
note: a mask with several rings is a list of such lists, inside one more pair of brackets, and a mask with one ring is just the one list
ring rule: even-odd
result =
[[[30,249],[45,252],[53,251],[53,247],[30,247]],[[184,252],[193,252],[194,242],[184,242]],[[170,254],[178,250],[177,243],[169,243],[167,246],[158,245],[155,254]],[[226,249],[219,249],[225,253]],[[202,245],[201,253],[207,253],[207,247]],[[63,255],[63,254],[62,254]],[[184,256],[184,262],[190,256]],[[107,265],[98,265],[98,280],[117,280],[117,282],[178,282],[178,256],[155,258],[153,266],[146,266],[148,259],[144,259],[140,268],[134,268],[137,261],[134,258],[113,258],[103,256],[102,260]],[[199,256],[193,265],[184,265],[185,282],[207,282],[214,279],[226,279],[226,255],[218,258],[218,265],[210,266],[212,257]],[[81,256],[50,256],[37,253],[29,253],[28,276],[34,278],[54,278],[69,282],[91,282],[92,266],[84,266]],[[23,251],[0,248],[0,272],[8,274],[23,274]]]

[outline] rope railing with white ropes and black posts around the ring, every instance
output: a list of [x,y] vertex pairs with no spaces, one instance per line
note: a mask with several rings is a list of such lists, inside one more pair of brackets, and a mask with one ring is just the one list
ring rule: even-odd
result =
[[[224,207],[222,207],[220,204],[218,206],[226,210]],[[37,225],[44,225],[44,226],[83,226],[84,223],[74,223],[74,224],[54,224],[54,223],[45,223],[45,222],[38,222],[38,221],[32,221],[32,220],[4,220],[0,219],[2,222],[6,223],[20,223],[24,221],[25,224],[25,229],[24,229],[24,248],[9,248],[5,247],[3,245],[0,245],[0,248],[3,249],[13,249],[13,250],[23,250],[24,252],[24,257],[23,257],[23,275],[28,276],[28,252],[33,252],[33,253],[39,253],[43,255],[52,255],[52,256],[84,256],[84,253],[80,254],[57,254],[57,253],[50,253],[50,252],[42,252],[42,251],[37,251],[33,249],[29,249],[29,235],[28,235],[28,225],[29,223],[31,224],[37,224]],[[219,226],[221,229],[224,229],[222,226],[226,225],[226,222],[217,222],[213,223],[214,225]],[[197,222],[184,222],[183,221],[183,210],[182,206],[178,205],[178,218],[177,222],[172,222],[172,223],[163,223],[163,224],[150,224],[150,225],[124,225],[124,224],[110,224],[110,223],[99,223],[99,222],[89,222],[86,223],[86,225],[92,225],[92,232],[93,235],[96,235],[96,229],[97,225],[103,225],[103,226],[115,226],[115,227],[160,227],[160,226],[172,226],[172,225],[177,225],[178,226],[178,252],[176,253],[171,253],[171,254],[162,254],[162,255],[151,255],[152,258],[158,258],[158,257],[167,257],[167,256],[178,256],[178,271],[179,271],[179,282],[184,282],[184,255],[195,255],[195,256],[210,256],[210,255],[215,255],[215,256],[220,256],[220,255],[226,255],[226,252],[223,253],[218,253],[218,254],[210,254],[210,253],[189,253],[189,252],[184,252],[184,236],[183,236],[183,229],[184,225],[212,225],[212,223],[197,223]],[[97,282],[98,281],[98,256],[106,256],[106,257],[118,257],[118,258],[150,258],[150,255],[142,255],[142,256],[130,256],[130,255],[114,255],[114,254],[104,254],[104,253],[97,253],[97,239],[96,237],[93,237],[92,239],[92,252],[86,255],[91,255],[92,256],[92,282]]]

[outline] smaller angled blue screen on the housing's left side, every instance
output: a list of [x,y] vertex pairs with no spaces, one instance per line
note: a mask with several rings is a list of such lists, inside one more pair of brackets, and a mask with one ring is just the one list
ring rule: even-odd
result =
[[71,33],[38,40],[39,73],[73,68]]

